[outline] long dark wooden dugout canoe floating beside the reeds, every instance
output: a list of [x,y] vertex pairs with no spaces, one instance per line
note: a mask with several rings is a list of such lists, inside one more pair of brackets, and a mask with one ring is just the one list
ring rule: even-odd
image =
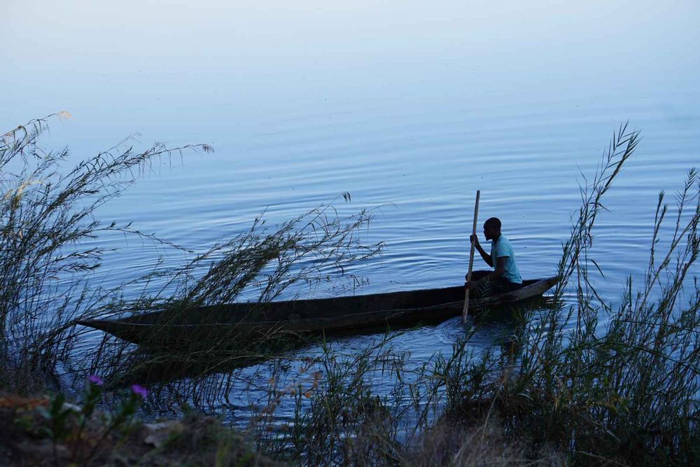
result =
[[[539,297],[559,277],[524,281],[517,291],[470,298],[471,312],[514,305]],[[376,293],[351,297],[232,303],[187,310],[135,314],[123,319],[89,319],[77,324],[134,344],[158,348],[241,344],[285,335],[361,332],[437,323],[461,314],[464,286]]]

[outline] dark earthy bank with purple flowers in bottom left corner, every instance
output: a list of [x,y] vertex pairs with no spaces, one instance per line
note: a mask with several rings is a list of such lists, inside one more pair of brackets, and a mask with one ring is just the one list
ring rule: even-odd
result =
[[97,410],[103,382],[90,377],[80,405],[51,397],[0,397],[0,459],[18,466],[276,466],[217,419],[191,412],[179,420],[134,417],[146,390],[120,394],[110,412]]

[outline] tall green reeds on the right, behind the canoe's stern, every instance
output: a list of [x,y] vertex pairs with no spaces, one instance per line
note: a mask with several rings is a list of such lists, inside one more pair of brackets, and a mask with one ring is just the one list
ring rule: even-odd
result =
[[694,463],[700,295],[697,278],[688,274],[700,251],[696,170],[689,170],[675,197],[672,237],[661,252],[659,232],[670,208],[659,194],[643,284],[635,288],[630,277],[613,307],[589,274],[591,265],[597,269],[591,232],[604,209],[601,197],[637,141],[636,132],[621,127],[593,183],[582,190],[580,216],[560,266],[573,279],[576,305],[556,307],[524,327],[517,376],[494,397],[513,433],[554,443],[574,461]]

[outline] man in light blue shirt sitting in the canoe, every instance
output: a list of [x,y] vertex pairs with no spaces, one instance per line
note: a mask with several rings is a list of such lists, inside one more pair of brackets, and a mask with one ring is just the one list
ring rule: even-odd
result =
[[481,297],[517,291],[522,288],[523,279],[515,262],[513,246],[500,233],[500,220],[498,218],[492,217],[484,222],[484,237],[486,240],[491,240],[490,255],[479,244],[476,235],[470,235],[470,241],[474,242],[479,254],[484,258],[486,264],[493,267],[494,271],[478,281],[467,281],[464,286],[471,288]]

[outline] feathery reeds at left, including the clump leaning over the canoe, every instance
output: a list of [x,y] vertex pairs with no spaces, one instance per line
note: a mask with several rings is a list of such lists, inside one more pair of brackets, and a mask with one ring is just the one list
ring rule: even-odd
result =
[[[264,218],[256,218],[247,232],[198,255],[130,224],[102,223],[96,210],[123,193],[154,158],[212,149],[206,144],[179,148],[155,144],[139,152],[126,140],[65,169],[68,149],[45,151],[40,137],[50,118],[68,117],[59,113],[32,120],[1,140],[0,382],[6,388],[28,392],[51,384],[59,365],[105,374],[144,361],[142,352],[111,337],[99,349],[76,358],[73,347],[85,333],[74,326],[76,319],[165,309],[180,312],[231,302],[244,291],[256,293],[254,302],[265,303],[293,284],[313,285],[335,277],[357,285],[360,279],[344,274],[346,268],[381,250],[381,244],[362,241],[370,212],[342,217],[332,204],[272,228]],[[349,194],[343,197],[349,201]],[[106,251],[94,246],[95,239],[110,232],[150,239],[188,259],[163,267],[154,258],[154,272],[137,279],[144,290],[138,298],[125,296],[122,287],[104,289],[90,279]],[[212,346],[216,348],[216,342]],[[246,348],[224,357],[249,359],[260,351],[265,349]],[[146,360],[166,356],[173,355],[148,355]],[[210,357],[202,354],[204,361]]]

